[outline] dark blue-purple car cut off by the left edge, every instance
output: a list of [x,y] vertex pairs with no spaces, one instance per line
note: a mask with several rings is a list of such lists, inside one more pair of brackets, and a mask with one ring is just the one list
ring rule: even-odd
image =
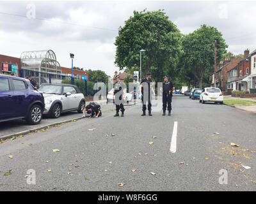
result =
[[44,96],[26,78],[0,75],[0,122],[26,119],[40,123],[44,111]]

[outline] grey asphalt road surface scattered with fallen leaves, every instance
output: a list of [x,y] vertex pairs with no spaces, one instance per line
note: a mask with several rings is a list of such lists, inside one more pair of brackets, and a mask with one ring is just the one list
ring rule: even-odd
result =
[[172,116],[141,117],[138,104],[0,143],[0,191],[255,191],[255,114],[187,97],[172,105]]

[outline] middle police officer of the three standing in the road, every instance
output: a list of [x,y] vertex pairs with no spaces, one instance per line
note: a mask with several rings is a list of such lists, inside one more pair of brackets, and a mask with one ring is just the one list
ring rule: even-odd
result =
[[148,115],[152,116],[152,113],[151,113],[152,96],[151,96],[151,94],[153,93],[154,96],[156,96],[156,94],[154,92],[154,89],[153,89],[152,85],[150,84],[152,82],[151,77],[152,77],[152,75],[150,73],[148,73],[147,77],[143,78],[143,80],[141,80],[140,98],[141,98],[141,101],[143,103],[143,105],[142,105],[143,113],[142,113],[141,116],[146,115],[146,110],[147,110],[146,103],[148,103]]

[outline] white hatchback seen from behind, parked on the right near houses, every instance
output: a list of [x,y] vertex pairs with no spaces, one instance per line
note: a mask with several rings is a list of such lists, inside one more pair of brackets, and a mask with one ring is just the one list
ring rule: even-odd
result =
[[207,101],[223,104],[223,94],[219,88],[207,87],[200,94],[200,103],[205,103]]

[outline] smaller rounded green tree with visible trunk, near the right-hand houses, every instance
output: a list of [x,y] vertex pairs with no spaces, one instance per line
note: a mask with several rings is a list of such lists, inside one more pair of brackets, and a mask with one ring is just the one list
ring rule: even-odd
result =
[[212,69],[214,65],[214,41],[217,40],[217,64],[220,63],[228,45],[222,38],[220,31],[216,27],[201,25],[193,33],[184,36],[182,40],[183,56],[186,69],[195,74],[198,86],[202,89],[202,79],[205,71]]

